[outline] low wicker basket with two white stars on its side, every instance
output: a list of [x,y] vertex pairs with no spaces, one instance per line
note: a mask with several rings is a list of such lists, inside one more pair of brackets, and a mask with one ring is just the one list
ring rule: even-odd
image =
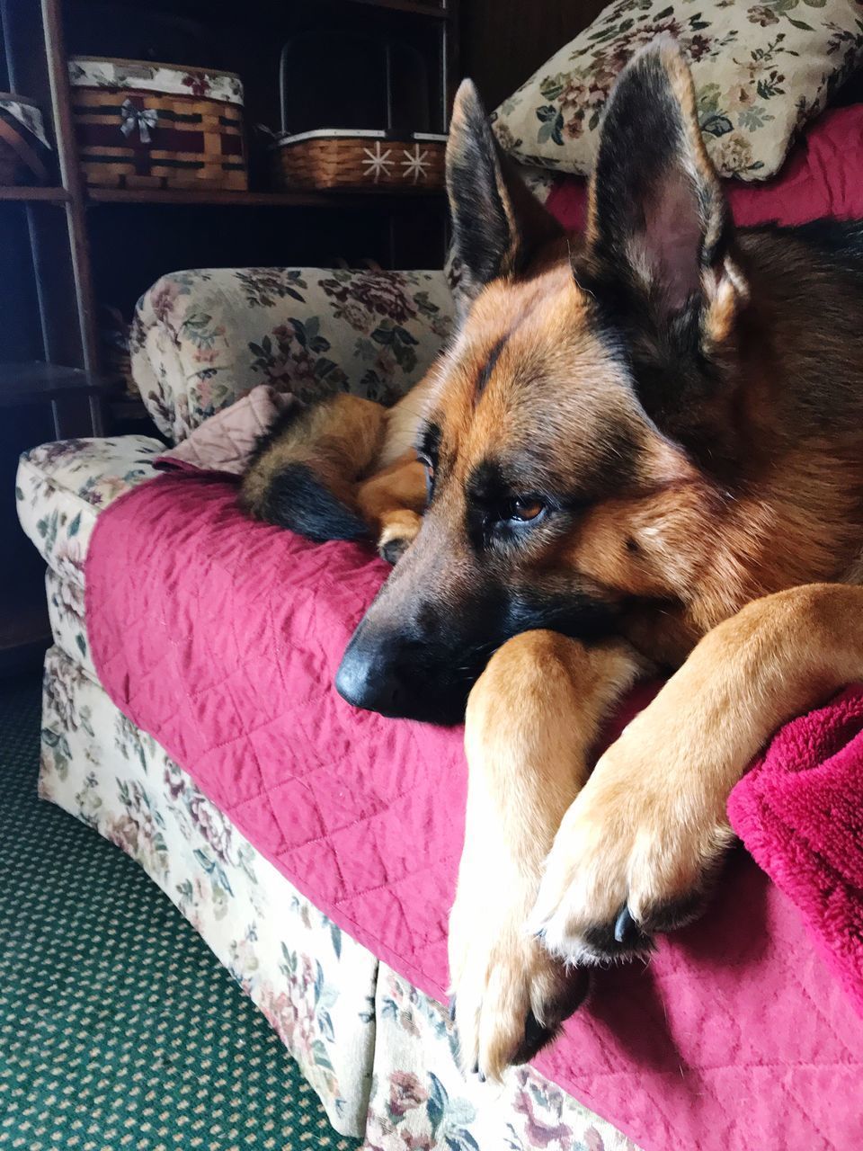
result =
[[444,184],[446,137],[324,128],[281,136],[273,178],[291,189],[435,191]]

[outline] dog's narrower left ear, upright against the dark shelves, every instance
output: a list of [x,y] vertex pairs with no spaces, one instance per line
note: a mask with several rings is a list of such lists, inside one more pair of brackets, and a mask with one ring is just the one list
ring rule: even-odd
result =
[[518,275],[563,228],[504,157],[473,81],[461,82],[446,144],[453,246],[471,297],[498,276]]

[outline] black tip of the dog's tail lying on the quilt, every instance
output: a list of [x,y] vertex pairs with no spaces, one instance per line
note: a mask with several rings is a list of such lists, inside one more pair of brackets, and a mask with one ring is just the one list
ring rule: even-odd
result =
[[367,540],[368,528],[354,511],[329,491],[307,464],[288,464],[264,497],[262,517],[315,543]]

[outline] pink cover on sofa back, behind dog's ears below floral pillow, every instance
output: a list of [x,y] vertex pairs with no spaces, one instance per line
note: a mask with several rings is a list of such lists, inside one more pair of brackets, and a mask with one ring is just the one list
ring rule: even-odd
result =
[[[741,227],[791,226],[822,216],[863,220],[863,105],[832,108],[819,116],[774,180],[757,185],[736,180],[723,183]],[[545,204],[566,228],[581,230],[585,181],[563,178]]]

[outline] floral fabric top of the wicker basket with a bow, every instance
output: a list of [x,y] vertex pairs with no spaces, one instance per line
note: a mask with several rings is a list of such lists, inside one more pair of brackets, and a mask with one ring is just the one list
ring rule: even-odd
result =
[[186,68],[183,64],[116,60],[113,56],[70,56],[69,83],[72,87],[130,87],[243,106],[239,76],[215,68]]

